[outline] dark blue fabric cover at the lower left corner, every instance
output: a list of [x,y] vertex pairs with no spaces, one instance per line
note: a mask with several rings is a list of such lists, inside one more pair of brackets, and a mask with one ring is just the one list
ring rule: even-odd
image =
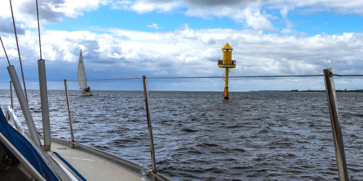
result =
[[[25,157],[26,160],[29,161],[31,165],[40,173],[41,176],[48,181],[57,181],[57,176],[52,172],[49,166],[42,159],[40,154],[36,151],[36,149],[28,142],[28,140],[21,135],[17,130],[15,130],[11,125],[9,125],[6,120],[3,110],[0,108],[0,132],[3,134],[11,144],[17,148],[17,150]],[[5,145],[0,142],[1,145],[5,148],[6,152],[10,153],[10,155],[15,159],[18,163],[19,160],[6,149]]]

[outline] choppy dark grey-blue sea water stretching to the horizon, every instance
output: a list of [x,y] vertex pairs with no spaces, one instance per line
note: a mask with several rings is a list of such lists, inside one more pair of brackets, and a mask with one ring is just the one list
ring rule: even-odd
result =
[[[52,136],[70,139],[65,92],[48,94]],[[151,168],[142,91],[69,94],[77,142]],[[149,91],[149,96],[154,127],[310,180],[338,180],[325,93],[230,92],[230,100],[223,100],[222,92]],[[363,94],[337,97],[349,177],[363,180]],[[36,127],[42,130],[39,91],[28,90],[28,98]],[[10,93],[0,90],[0,106],[5,105],[10,105]],[[177,181],[298,180],[153,132],[158,171]]]

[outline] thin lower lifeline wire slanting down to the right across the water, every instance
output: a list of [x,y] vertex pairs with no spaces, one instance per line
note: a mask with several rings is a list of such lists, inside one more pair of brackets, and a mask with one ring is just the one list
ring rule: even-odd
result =
[[[126,123],[126,121],[117,121],[117,122],[125,122],[125,123]],[[130,123],[130,122],[127,122],[127,123],[128,123],[128,124],[133,124],[133,125],[139,125],[139,126],[147,126],[147,125],[140,125],[140,124],[138,124],[138,123]],[[258,164],[258,165],[261,165],[261,166],[263,166],[263,167],[266,167],[266,168],[272,169],[272,170],[274,170],[274,171],[278,171],[278,172],[281,172],[281,173],[285,173],[285,174],[288,174],[288,175],[290,175],[290,176],[293,176],[293,177],[296,177],[296,178],[300,178],[300,179],[302,179],[302,180],[311,181],[311,180],[309,180],[309,179],[299,177],[299,176],[297,176],[297,175],[294,175],[294,174],[291,174],[291,173],[288,173],[288,172],[282,171],[282,170],[280,170],[280,169],[273,168],[273,167],[269,167],[269,166],[267,166],[267,165],[264,165],[264,164],[258,163],[258,162],[256,162],[256,161],[252,161],[252,160],[249,160],[249,159],[245,159],[244,157],[240,157],[240,156],[237,156],[237,155],[233,155],[232,153],[228,153],[228,152],[225,152],[225,151],[223,151],[223,150],[219,150],[219,149],[217,149],[217,148],[213,148],[213,147],[211,147],[211,146],[207,146],[207,145],[205,145],[205,144],[198,143],[198,142],[196,142],[196,141],[193,141],[193,140],[191,140],[191,139],[187,139],[187,138],[184,138],[184,137],[178,136],[178,135],[173,134],[173,133],[171,133],[171,132],[163,131],[163,130],[158,129],[158,128],[154,127],[154,126],[151,126],[151,127],[152,127],[152,128],[154,128],[154,129],[156,129],[156,130],[159,130],[159,131],[165,132],[165,133],[167,133],[167,134],[171,134],[171,135],[177,136],[177,137],[179,137],[179,138],[181,138],[181,139],[185,139],[185,140],[191,141],[191,142],[193,142],[193,143],[200,144],[201,146],[205,146],[205,147],[211,148],[211,149],[213,149],[213,150],[217,150],[217,151],[220,151],[220,152],[223,152],[223,153],[227,153],[228,155],[231,155],[231,156],[234,156],[234,157],[237,157],[237,158],[240,158],[240,159],[243,159],[243,160],[246,160],[246,161],[249,161],[249,162],[252,162],[252,163]]]

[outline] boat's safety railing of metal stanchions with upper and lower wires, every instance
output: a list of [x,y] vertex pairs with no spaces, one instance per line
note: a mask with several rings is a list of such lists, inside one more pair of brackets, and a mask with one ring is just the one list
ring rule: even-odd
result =
[[[219,60],[219,64],[223,63],[223,62],[220,62],[220,61],[222,61],[222,60]],[[337,158],[337,165],[338,165],[339,180],[340,181],[348,181],[348,172],[347,172],[347,166],[346,166],[346,160],[345,160],[345,154],[344,154],[344,146],[343,146],[342,132],[341,132],[340,122],[339,122],[339,113],[338,113],[338,107],[337,107],[337,98],[336,98],[336,94],[335,94],[333,76],[341,77],[341,76],[363,76],[363,75],[336,75],[336,74],[333,74],[331,69],[325,69],[325,70],[323,70],[323,75],[229,76],[228,78],[233,78],[233,77],[314,77],[314,76],[315,77],[316,76],[323,76],[324,80],[325,80],[327,100],[328,100],[329,112],[330,112],[331,128],[332,128],[332,131],[333,131],[335,155],[336,155],[336,158]],[[146,114],[147,114],[148,130],[149,130],[149,140],[150,140],[151,162],[152,162],[152,170],[150,170],[150,173],[153,174],[153,180],[157,180],[159,173],[157,173],[156,164],[155,164],[155,151],[154,151],[154,143],[153,143],[153,138],[152,138],[152,128],[155,128],[155,127],[151,126],[150,107],[149,107],[149,101],[148,101],[148,90],[147,90],[146,79],[185,79],[185,78],[220,78],[220,77],[149,77],[149,78],[146,78],[146,76],[143,76],[142,78],[125,78],[125,79],[142,79],[143,80],[144,96],[145,96],[145,104],[146,104]],[[225,78],[225,77],[223,76],[223,78]],[[95,79],[95,80],[125,80],[125,79]],[[77,80],[71,80],[71,81],[77,81]],[[90,80],[88,80],[88,81],[90,81]],[[73,131],[72,131],[72,120],[71,120],[70,110],[69,110],[68,88],[67,88],[66,82],[67,82],[67,80],[64,80],[65,90],[66,90],[66,97],[67,97],[67,104],[68,104],[70,130],[71,130],[71,135],[72,135],[72,141],[71,142],[73,143],[73,146],[74,146],[74,138],[73,138]],[[135,123],[131,123],[131,124],[135,124]],[[142,126],[144,126],[144,125],[142,125]],[[157,129],[157,128],[155,128],[155,129]],[[160,130],[160,129],[157,129],[157,130]],[[160,131],[163,131],[163,130],[160,130]],[[163,131],[163,132],[166,132],[166,131]],[[172,134],[170,132],[166,132],[166,133],[178,136],[178,135]],[[178,137],[183,138],[181,136],[178,136]],[[300,178],[302,180],[308,180],[306,178],[302,178],[302,177],[296,176],[294,174],[290,174],[290,173],[284,172],[282,170],[272,168],[272,167],[269,167],[269,166],[264,165],[264,164],[257,163],[255,161],[248,160],[248,159],[245,159],[245,158],[237,156],[237,155],[233,155],[231,153],[228,153],[228,152],[225,152],[225,151],[222,151],[222,150],[219,150],[219,149],[216,149],[216,148],[213,148],[213,147],[210,147],[210,146],[195,142],[195,141],[187,139],[187,138],[183,138],[183,139],[194,142],[194,143],[197,143],[197,144],[200,144],[202,146],[205,146],[205,147],[217,150],[217,151],[224,152],[226,154],[229,154],[229,155],[244,159],[246,161],[250,161],[252,163],[261,165],[261,166],[269,168],[269,169],[273,169],[273,170],[281,172],[281,173],[289,174],[290,176],[294,176],[294,177]]]

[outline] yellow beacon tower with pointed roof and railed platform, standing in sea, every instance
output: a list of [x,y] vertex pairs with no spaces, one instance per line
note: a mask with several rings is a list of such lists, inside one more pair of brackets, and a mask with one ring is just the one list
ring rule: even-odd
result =
[[218,67],[225,68],[225,72],[223,73],[224,80],[224,99],[229,99],[228,97],[228,74],[231,71],[231,68],[236,67],[236,60],[232,60],[232,47],[228,45],[228,43],[222,48],[223,51],[223,59],[218,60]]

